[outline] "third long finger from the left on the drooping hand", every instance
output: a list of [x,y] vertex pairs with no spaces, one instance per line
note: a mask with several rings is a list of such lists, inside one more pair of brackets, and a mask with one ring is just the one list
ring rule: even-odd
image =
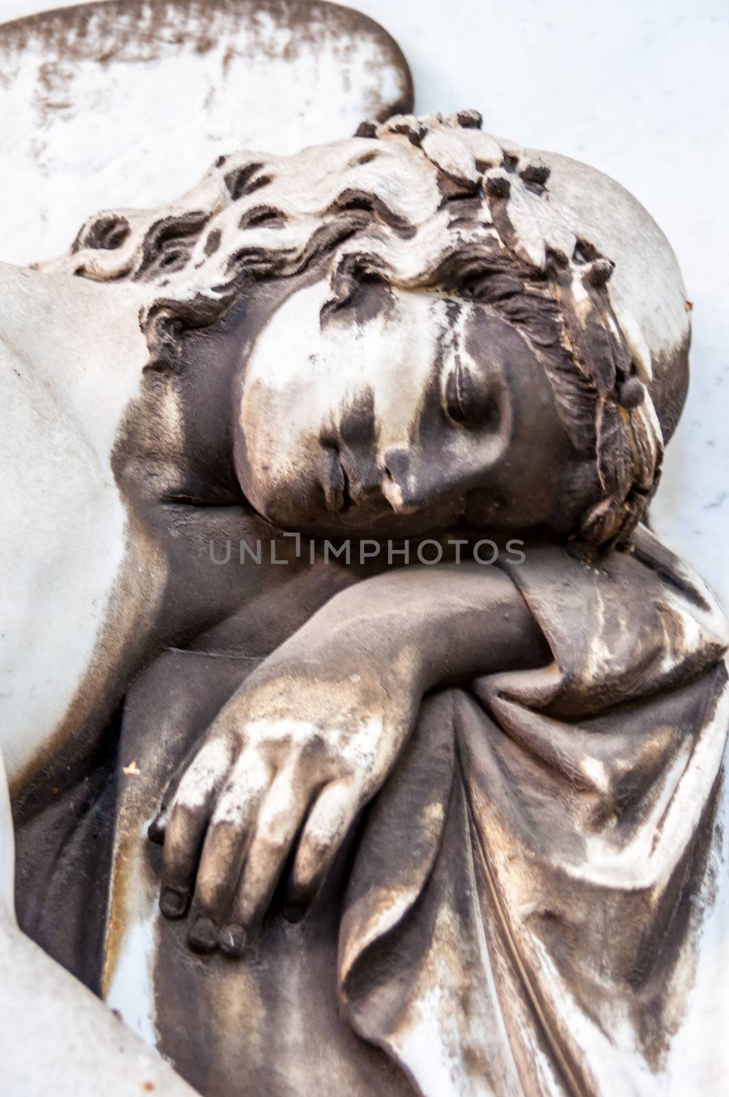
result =
[[310,801],[307,782],[296,781],[291,770],[278,774],[258,813],[228,924],[218,935],[218,945],[228,955],[243,953],[266,913]]

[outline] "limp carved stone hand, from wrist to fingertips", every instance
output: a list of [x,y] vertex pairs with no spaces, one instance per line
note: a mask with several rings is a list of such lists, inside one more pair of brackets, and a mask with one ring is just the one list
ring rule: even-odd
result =
[[194,884],[199,951],[244,951],[299,834],[285,911],[303,915],[407,737],[417,657],[405,649],[380,667],[340,648],[335,669],[330,643],[293,665],[284,645],[225,705],[179,783],[160,907],[182,917]]

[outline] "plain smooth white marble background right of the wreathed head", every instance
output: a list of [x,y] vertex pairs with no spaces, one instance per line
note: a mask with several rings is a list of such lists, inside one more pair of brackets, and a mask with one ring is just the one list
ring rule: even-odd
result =
[[[0,0],[0,15],[42,7]],[[653,520],[729,606],[726,0],[357,7],[404,49],[418,111],[476,106],[486,129],[586,160],[631,190],[669,236],[694,303],[693,378]]]

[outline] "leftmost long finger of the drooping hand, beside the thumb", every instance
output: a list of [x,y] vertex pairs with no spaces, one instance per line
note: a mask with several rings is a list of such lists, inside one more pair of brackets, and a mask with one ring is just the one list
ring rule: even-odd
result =
[[231,755],[224,739],[205,744],[180,781],[165,837],[159,896],[159,908],[168,918],[181,918],[187,912],[205,828]]

